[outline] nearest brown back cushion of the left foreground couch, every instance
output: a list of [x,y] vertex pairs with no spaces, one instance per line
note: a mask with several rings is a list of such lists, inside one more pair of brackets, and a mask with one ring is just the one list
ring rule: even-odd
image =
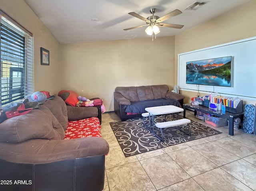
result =
[[28,139],[60,140],[63,138],[64,129],[44,105],[0,124],[1,142],[18,143]]

